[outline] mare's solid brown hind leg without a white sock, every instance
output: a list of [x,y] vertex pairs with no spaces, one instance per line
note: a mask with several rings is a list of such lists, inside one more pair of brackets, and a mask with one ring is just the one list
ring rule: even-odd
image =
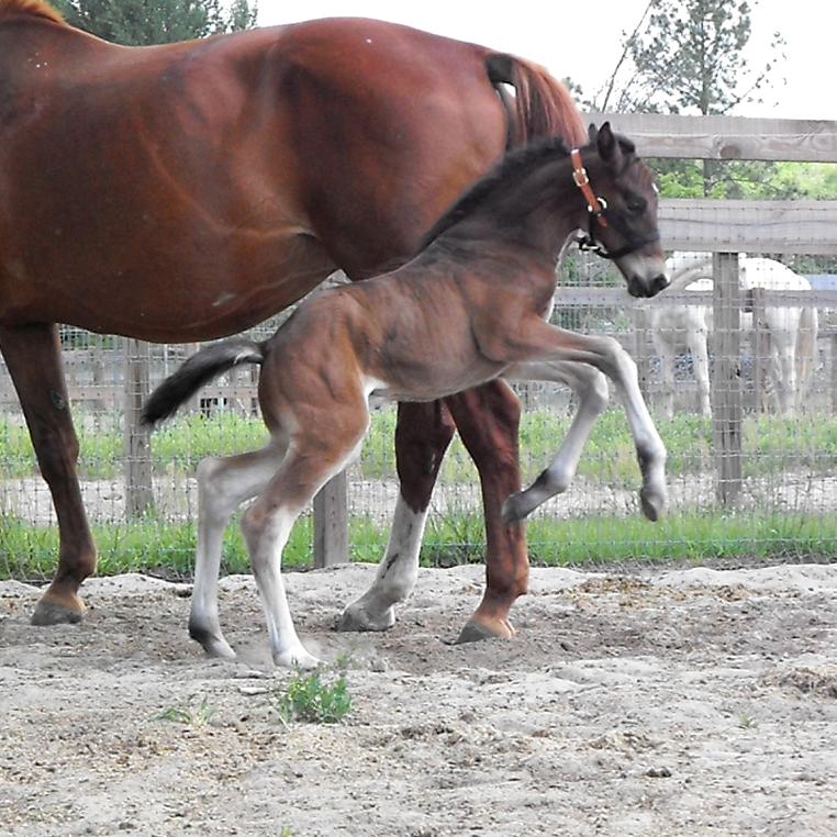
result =
[[451,395],[446,403],[479,471],[486,515],[486,592],[458,641],[509,638],[514,635],[509,612],[526,592],[529,573],[524,528],[502,520],[506,498],[521,490],[520,401],[505,381],[496,380]]

